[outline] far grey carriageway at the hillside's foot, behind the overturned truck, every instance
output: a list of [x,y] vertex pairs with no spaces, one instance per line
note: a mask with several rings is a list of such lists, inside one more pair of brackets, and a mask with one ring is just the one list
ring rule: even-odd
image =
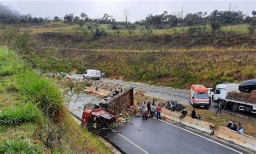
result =
[[[68,75],[69,76],[69,75]],[[83,79],[83,75],[80,74],[72,74],[71,78]],[[145,95],[150,97],[156,97],[163,100],[177,100],[178,103],[190,105],[189,101],[189,92],[187,90],[179,90],[179,89],[172,89],[167,87],[159,87],[153,85],[146,85],[143,83],[136,83],[136,82],[127,82],[127,81],[120,81],[120,80],[111,80],[107,78],[102,78],[100,81],[103,82],[110,82],[110,83],[118,83],[119,85],[139,88],[146,91]],[[218,108],[217,104],[212,103],[212,106],[209,108],[211,111],[216,111]],[[241,118],[245,118],[247,120],[256,121],[255,114],[248,114],[245,112],[234,112],[231,109],[223,108],[221,109],[226,114],[230,114],[233,116],[238,116]]]

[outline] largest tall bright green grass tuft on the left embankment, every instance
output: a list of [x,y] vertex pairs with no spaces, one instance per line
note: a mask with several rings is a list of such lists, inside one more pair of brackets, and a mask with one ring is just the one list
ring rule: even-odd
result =
[[17,75],[16,88],[26,101],[37,104],[46,116],[54,117],[62,111],[62,96],[59,90],[45,78],[38,78],[32,71],[24,71]]

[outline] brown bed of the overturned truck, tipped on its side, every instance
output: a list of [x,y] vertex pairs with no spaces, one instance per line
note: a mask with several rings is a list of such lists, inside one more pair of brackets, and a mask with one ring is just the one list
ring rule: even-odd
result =
[[99,106],[110,114],[117,116],[122,111],[125,111],[130,106],[133,106],[133,88],[129,88],[114,95],[105,102],[100,102]]

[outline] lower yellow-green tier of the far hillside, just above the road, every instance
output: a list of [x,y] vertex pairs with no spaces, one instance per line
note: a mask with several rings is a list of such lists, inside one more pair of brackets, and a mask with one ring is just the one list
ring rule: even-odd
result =
[[85,66],[78,66],[79,70],[100,69],[112,78],[177,88],[189,88],[192,83],[212,87],[256,78],[256,51],[60,50],[59,56],[82,59]]

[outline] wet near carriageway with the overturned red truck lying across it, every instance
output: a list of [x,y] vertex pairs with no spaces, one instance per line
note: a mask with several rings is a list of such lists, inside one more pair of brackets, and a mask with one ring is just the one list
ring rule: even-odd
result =
[[[81,118],[85,103],[71,103],[68,109]],[[109,130],[102,137],[125,153],[246,153],[197,132],[152,118],[133,117],[131,123]]]

